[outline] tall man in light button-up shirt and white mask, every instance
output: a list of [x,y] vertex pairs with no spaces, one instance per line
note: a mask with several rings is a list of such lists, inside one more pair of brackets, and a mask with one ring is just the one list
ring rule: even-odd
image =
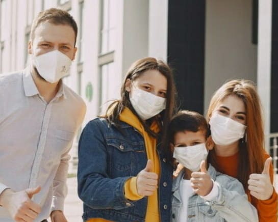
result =
[[61,80],[77,48],[77,24],[48,9],[33,21],[24,71],[0,76],[0,221],[67,221],[69,150],[85,116]]

